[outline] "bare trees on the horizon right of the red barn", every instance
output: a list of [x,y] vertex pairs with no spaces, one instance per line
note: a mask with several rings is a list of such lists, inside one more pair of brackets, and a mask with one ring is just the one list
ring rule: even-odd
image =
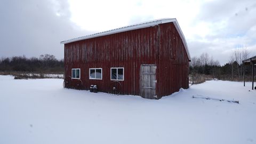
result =
[[[249,51],[246,48],[234,50],[229,58],[229,62],[220,66],[218,60],[214,60],[208,53],[203,53],[199,57],[191,58],[189,63],[189,73],[209,75],[213,78],[242,81],[243,80],[243,60],[249,58]],[[245,67],[245,78],[251,80],[251,67]]]

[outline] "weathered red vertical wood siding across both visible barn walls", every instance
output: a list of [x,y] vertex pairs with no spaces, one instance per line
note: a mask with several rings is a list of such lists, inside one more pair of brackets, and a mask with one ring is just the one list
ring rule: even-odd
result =
[[[124,67],[122,94],[140,95],[142,64],[157,66],[158,98],[188,88],[188,56],[172,22],[65,44],[65,77],[80,68],[85,90],[94,84],[108,92],[110,68]],[[89,68],[102,68],[102,80],[89,79]]]

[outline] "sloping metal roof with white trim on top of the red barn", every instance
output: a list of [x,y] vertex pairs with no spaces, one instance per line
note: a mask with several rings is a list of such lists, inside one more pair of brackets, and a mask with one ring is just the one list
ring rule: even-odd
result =
[[112,29],[112,30],[108,30],[108,31],[103,31],[101,33],[96,33],[96,34],[92,34],[92,35],[86,35],[86,36],[82,36],[82,37],[68,39],[66,41],[60,42],[60,44],[72,43],[72,42],[81,41],[81,40],[84,40],[84,39],[100,37],[100,36],[106,36],[106,35],[121,33],[121,32],[124,32],[124,31],[130,31],[130,30],[134,30],[134,29],[141,29],[141,28],[152,27],[152,26],[159,25],[161,23],[168,23],[168,22],[173,22],[174,26],[178,30],[178,33],[179,33],[179,35],[180,35],[180,37],[182,39],[182,42],[183,42],[183,44],[185,46],[185,49],[186,49],[186,52],[188,54],[188,59],[190,61],[191,58],[190,58],[190,54],[189,54],[189,51],[188,51],[188,45],[187,45],[186,39],[185,39],[181,29],[180,29],[178,21],[175,18],[174,19],[169,19],[169,18],[167,18],[167,19],[158,19],[158,20],[152,20],[152,21],[137,23],[137,24],[130,25],[130,26],[116,28],[116,29]]

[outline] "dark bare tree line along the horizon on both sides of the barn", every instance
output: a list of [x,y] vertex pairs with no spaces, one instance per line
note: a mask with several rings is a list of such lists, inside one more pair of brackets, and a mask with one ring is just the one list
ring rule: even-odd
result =
[[[221,66],[208,53],[191,58],[189,74],[207,75],[229,81],[242,81],[243,60],[249,58],[246,48],[234,50],[229,62]],[[57,60],[54,55],[42,54],[39,58],[27,58],[25,55],[0,59],[0,71],[21,71],[22,73],[64,73],[64,60]],[[245,78],[251,80],[251,67],[245,67]]]

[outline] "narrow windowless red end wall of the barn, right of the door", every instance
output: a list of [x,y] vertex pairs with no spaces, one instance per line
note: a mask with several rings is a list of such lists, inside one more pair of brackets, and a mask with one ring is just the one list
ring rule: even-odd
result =
[[159,25],[159,97],[188,88],[188,55],[173,23]]

